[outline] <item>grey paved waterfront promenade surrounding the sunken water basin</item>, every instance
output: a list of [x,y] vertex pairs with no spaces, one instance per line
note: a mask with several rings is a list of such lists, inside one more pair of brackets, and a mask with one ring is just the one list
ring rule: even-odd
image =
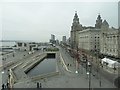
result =
[[[66,50],[59,47],[60,51],[57,52],[57,68],[59,74],[51,77],[44,77],[38,80],[32,80],[27,74],[24,73],[26,65],[34,62],[34,57],[38,56],[43,51],[36,51],[29,55],[27,51],[15,53],[15,57],[8,56],[6,60],[17,62],[4,70],[2,75],[2,83],[6,83],[8,78],[8,69],[14,68],[13,73],[16,77],[13,88],[36,88],[37,82],[42,84],[43,88],[89,88],[89,77],[86,73],[86,69],[79,65],[79,69],[76,72],[76,60],[72,58]],[[25,56],[24,56],[25,55]],[[6,56],[4,56],[6,57]],[[7,61],[6,61],[7,63]],[[69,65],[68,65],[69,64]],[[94,73],[96,73],[94,71]],[[96,76],[91,75],[91,88],[115,88],[114,84],[107,80],[101,75],[101,86],[99,83],[100,79]],[[2,85],[1,83],[1,85]]]

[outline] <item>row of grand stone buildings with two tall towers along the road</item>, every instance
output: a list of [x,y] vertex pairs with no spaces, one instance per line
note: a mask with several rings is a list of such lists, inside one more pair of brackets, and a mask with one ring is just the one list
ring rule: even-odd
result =
[[95,26],[82,26],[77,12],[71,26],[71,48],[97,51],[101,55],[120,58],[120,28],[109,27],[106,20],[97,16]]

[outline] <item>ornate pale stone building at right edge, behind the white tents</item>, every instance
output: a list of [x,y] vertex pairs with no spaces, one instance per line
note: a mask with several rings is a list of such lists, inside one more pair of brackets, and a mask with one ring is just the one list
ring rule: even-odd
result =
[[109,28],[106,20],[102,23],[100,52],[104,55],[120,57],[120,30]]

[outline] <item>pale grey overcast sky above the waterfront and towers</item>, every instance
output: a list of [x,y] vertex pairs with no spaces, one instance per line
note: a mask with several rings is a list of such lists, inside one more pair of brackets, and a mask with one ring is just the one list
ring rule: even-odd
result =
[[[13,0],[14,1],[14,0]],[[1,10],[0,10],[1,11]],[[98,13],[118,27],[117,2],[7,2],[2,3],[2,39],[49,41],[70,36],[77,11],[80,24],[94,26]]]

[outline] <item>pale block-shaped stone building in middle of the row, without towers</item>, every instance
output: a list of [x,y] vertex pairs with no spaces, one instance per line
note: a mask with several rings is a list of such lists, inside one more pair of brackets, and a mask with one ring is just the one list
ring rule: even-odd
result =
[[99,51],[100,29],[85,29],[79,32],[79,49]]

